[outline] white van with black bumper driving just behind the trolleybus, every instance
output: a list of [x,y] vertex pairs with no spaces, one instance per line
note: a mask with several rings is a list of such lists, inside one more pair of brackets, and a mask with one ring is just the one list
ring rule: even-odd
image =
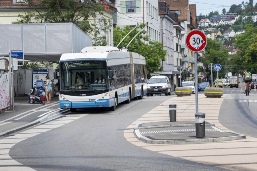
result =
[[167,76],[152,76],[147,84],[146,96],[153,96],[157,93],[171,95],[171,85]]

